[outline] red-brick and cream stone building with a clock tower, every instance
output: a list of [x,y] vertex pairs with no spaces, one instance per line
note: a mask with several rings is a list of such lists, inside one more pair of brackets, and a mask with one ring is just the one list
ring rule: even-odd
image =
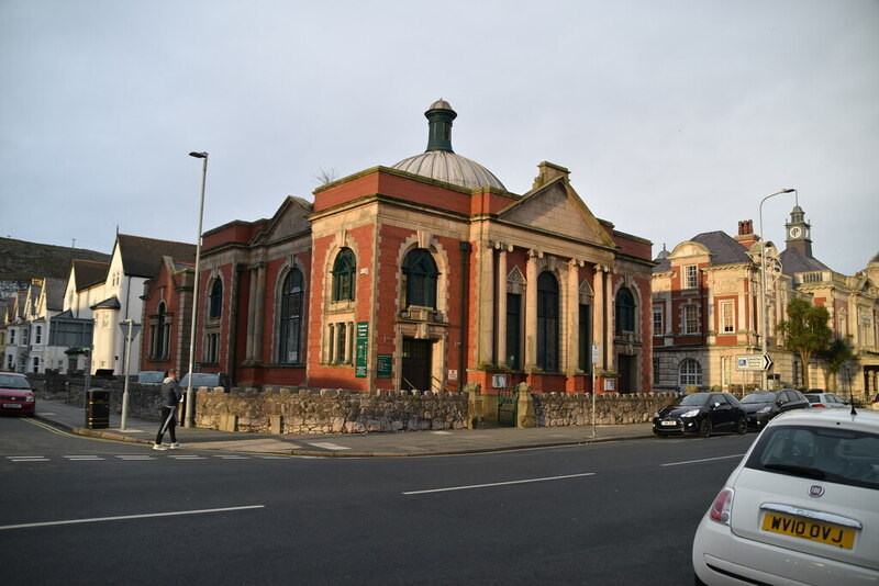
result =
[[[767,347],[775,385],[803,386],[799,356],[778,346],[778,323],[793,297],[827,307],[834,336],[850,340],[855,359],[830,376],[826,362],[810,363],[810,386],[863,398],[877,390],[879,373],[879,256],[855,275],[837,273],[812,253],[811,225],[795,205],[786,223],[786,247],[767,248]],[[736,356],[761,352],[760,237],[753,222],[738,234],[702,233],[664,249],[653,270],[654,380],[657,391],[688,385],[742,390],[761,384],[761,373],[738,371]]]

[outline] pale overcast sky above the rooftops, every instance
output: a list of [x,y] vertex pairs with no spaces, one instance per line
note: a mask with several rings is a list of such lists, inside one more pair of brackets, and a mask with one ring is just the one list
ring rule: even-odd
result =
[[[798,189],[835,271],[879,252],[879,1],[0,0],[0,236],[196,241],[424,150],[514,193],[571,171],[654,243],[759,229]],[[764,205],[783,247],[794,195]]]

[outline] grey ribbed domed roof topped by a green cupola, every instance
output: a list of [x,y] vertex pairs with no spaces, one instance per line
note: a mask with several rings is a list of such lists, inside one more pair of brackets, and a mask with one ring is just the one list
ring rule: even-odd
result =
[[456,155],[452,149],[452,121],[458,115],[442,98],[424,113],[427,117],[427,149],[393,165],[421,177],[436,179],[467,189],[496,188],[507,191],[494,173],[478,162]]

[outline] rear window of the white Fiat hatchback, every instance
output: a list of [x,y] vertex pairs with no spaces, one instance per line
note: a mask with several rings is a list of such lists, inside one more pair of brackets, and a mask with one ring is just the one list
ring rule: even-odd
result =
[[746,467],[879,489],[879,433],[811,426],[767,428]]

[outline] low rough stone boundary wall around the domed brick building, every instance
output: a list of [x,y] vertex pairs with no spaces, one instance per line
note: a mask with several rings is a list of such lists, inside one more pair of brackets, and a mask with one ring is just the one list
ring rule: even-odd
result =
[[[63,398],[84,406],[84,381],[49,373],[29,374],[37,398]],[[122,412],[124,382],[92,379],[91,388],[110,392],[112,413]],[[519,427],[588,426],[592,422],[592,395],[519,392]],[[129,383],[129,416],[159,420],[159,385]],[[643,424],[671,403],[672,393],[603,393],[596,396],[598,425]],[[300,387],[223,388],[201,387],[196,394],[196,427],[260,433],[364,433],[445,430],[493,425],[482,419],[483,405],[494,395],[476,386],[460,393],[432,391],[379,391]]]

